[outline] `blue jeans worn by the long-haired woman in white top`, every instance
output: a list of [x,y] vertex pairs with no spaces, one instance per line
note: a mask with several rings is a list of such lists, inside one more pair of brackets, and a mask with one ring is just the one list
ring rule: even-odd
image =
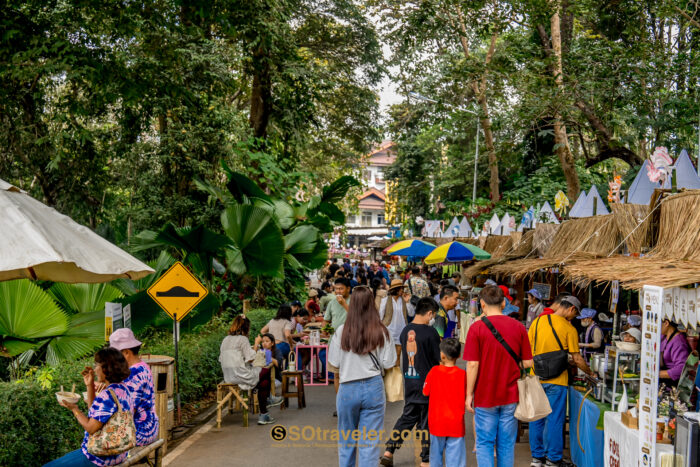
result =
[[[379,462],[379,432],[384,429],[384,380],[377,375],[371,378],[340,383],[335,399],[338,410],[338,464],[340,467],[377,465]],[[357,430],[360,438],[352,439]],[[374,431],[374,433],[372,433]],[[364,433],[364,435],[363,435]]]

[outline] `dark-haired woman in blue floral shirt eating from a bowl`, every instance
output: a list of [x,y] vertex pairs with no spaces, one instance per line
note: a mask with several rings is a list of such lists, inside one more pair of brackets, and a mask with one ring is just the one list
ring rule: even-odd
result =
[[[127,453],[116,456],[97,457],[87,450],[88,437],[96,433],[118,410],[117,402],[112,398],[110,389],[114,392],[122,410],[132,410],[131,395],[129,388],[123,381],[129,376],[129,365],[120,351],[113,348],[106,348],[95,354],[95,367],[85,367],[82,372],[83,381],[87,386],[88,405],[90,411],[88,415],[78,408],[76,404],[61,402],[61,405],[70,409],[78,420],[78,423],[85,428],[82,448],[69,452],[60,459],[49,462],[44,467],[91,467],[93,465],[116,465],[121,464],[126,459]],[[95,396],[95,380],[105,384],[103,389]]]

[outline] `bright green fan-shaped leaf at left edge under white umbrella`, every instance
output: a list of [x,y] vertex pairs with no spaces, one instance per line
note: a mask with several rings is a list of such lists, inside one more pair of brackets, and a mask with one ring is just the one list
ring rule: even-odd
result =
[[68,316],[51,297],[28,280],[0,282],[0,344],[19,355],[39,339],[62,335]]

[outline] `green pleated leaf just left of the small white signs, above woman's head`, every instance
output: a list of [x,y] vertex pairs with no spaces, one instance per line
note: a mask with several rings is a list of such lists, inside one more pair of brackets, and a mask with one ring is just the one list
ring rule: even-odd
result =
[[58,365],[93,352],[105,343],[104,311],[78,313],[70,317],[68,330],[51,338],[46,346],[46,361]]

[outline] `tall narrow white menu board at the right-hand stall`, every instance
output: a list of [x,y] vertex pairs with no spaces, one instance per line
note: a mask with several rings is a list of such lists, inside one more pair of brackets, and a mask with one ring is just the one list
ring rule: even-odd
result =
[[639,386],[639,465],[654,467],[656,465],[656,411],[659,391],[661,323],[664,319],[664,289],[645,285],[642,294],[644,305],[642,309],[642,368]]

